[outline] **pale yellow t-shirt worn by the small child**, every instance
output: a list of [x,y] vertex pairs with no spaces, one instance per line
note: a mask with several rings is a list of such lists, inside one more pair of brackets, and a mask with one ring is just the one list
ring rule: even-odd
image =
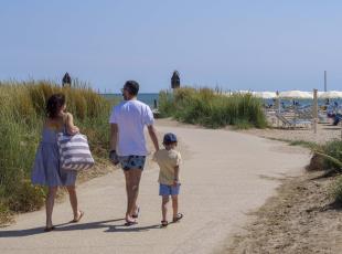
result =
[[154,160],[159,165],[159,182],[172,186],[174,182],[174,168],[181,163],[181,154],[177,150],[162,149],[154,154]]

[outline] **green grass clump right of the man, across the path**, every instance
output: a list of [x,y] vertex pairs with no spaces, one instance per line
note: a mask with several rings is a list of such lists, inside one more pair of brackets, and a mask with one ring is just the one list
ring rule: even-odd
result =
[[245,129],[267,125],[259,98],[250,94],[226,96],[210,88],[163,91],[159,95],[159,110],[163,117],[209,128],[232,125]]

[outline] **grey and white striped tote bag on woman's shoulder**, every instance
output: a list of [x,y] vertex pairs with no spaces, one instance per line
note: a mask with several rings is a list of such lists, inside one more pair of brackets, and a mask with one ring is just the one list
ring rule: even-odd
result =
[[64,170],[85,170],[94,166],[88,139],[85,135],[74,136],[61,133],[57,135],[61,168]]

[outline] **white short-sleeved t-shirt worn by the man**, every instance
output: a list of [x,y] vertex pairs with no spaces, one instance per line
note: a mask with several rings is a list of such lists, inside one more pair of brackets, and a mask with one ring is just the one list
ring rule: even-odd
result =
[[137,99],[125,100],[113,108],[109,123],[118,125],[118,156],[147,156],[143,128],[154,123],[148,105]]

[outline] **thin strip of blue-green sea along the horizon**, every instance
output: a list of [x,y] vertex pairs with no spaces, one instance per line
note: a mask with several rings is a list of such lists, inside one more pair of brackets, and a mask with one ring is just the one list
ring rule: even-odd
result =
[[[101,94],[104,97],[108,99],[116,99],[116,100],[122,100],[121,94]],[[159,94],[158,93],[141,93],[138,94],[138,99],[149,105],[151,108],[154,108],[154,102],[159,100]],[[342,105],[342,98],[339,99],[330,99],[329,103],[331,105],[334,104],[334,102],[338,103],[338,105]],[[265,105],[272,105],[275,102],[272,99],[264,99]],[[293,103],[297,104],[297,106],[301,107],[308,107],[312,105],[312,99],[281,99],[281,103],[284,106],[290,106]],[[318,100],[319,106],[325,105],[325,99],[319,99]]]

